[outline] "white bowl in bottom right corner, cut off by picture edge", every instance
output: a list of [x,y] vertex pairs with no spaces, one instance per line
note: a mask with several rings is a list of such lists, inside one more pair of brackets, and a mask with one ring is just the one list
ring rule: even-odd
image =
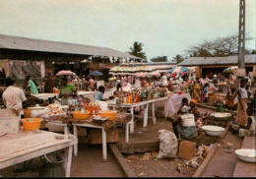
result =
[[236,149],[235,154],[243,161],[256,162],[256,150],[255,149]]

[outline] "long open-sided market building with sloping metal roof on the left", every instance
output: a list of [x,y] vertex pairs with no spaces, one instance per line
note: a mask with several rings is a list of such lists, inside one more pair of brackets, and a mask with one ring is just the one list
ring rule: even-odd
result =
[[0,34],[1,70],[16,80],[25,79],[26,75],[42,79],[45,72],[55,75],[67,69],[79,76],[88,75],[90,70],[105,76],[109,68],[123,61],[142,60],[107,47]]

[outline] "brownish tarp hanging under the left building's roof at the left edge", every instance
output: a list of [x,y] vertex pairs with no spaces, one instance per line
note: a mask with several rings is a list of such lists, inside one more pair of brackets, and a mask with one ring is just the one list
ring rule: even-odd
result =
[[34,60],[0,60],[0,68],[5,70],[6,77],[25,79],[27,75],[32,78],[44,78],[44,61]]

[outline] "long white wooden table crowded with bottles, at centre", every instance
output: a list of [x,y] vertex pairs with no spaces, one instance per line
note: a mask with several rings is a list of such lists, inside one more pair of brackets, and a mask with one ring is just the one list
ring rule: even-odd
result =
[[[130,125],[131,125],[130,133],[131,134],[134,133],[134,117],[136,116],[134,114],[134,107],[146,105],[145,110],[144,110],[144,115],[143,115],[143,127],[145,128],[148,125],[148,118],[152,118],[153,123],[156,124],[155,102],[159,102],[161,100],[164,100],[164,116],[165,116],[165,118],[167,117],[167,99],[168,98],[169,98],[168,96],[164,96],[164,97],[155,98],[155,99],[151,99],[151,100],[145,100],[145,101],[141,101],[141,102],[137,102],[137,103],[133,103],[133,104],[127,104],[127,103],[120,104],[121,107],[130,108],[130,110],[131,110],[132,120],[130,122]],[[115,103],[113,103],[113,100],[108,101],[107,104],[108,104],[108,106],[115,106],[116,105]],[[152,104],[152,117],[149,117],[149,105],[150,104]],[[138,116],[138,117],[140,117],[140,116]]]

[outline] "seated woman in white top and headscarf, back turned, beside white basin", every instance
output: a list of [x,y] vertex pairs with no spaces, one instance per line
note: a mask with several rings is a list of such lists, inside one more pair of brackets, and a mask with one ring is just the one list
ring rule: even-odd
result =
[[184,105],[180,110],[182,115],[172,122],[172,129],[177,138],[190,140],[197,137],[194,115],[189,114],[188,110],[189,107]]

